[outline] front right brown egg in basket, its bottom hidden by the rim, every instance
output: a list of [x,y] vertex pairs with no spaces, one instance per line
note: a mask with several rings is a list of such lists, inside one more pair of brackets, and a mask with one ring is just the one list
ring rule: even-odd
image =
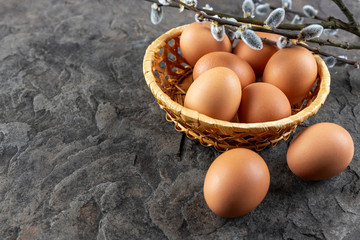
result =
[[243,89],[238,111],[239,122],[259,123],[275,121],[291,115],[285,94],[269,83],[257,82]]

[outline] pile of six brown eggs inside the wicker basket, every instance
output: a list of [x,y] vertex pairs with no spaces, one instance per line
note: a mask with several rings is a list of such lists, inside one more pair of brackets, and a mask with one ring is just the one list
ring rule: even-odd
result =
[[[276,34],[257,33],[277,41]],[[209,117],[242,123],[275,121],[291,115],[291,106],[313,87],[317,64],[303,47],[264,43],[254,50],[240,41],[232,48],[225,36],[217,41],[210,23],[192,23],[181,34],[180,49],[193,67],[194,82],[184,106]]]

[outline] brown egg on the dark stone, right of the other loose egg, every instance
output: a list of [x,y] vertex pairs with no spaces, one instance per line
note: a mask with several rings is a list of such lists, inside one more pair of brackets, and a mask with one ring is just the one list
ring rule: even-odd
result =
[[334,123],[317,123],[301,131],[287,152],[290,170],[306,180],[323,180],[341,173],[354,155],[350,134]]

